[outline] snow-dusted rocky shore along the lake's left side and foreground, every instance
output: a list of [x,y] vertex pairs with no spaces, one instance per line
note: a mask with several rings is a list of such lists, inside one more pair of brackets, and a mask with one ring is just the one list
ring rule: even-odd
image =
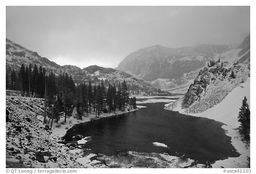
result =
[[[6,122],[6,168],[202,168],[192,159],[168,154],[139,153],[134,151],[106,156],[84,154],[76,143],[64,145],[61,137],[73,125],[100,119],[113,114],[93,114],[83,120],[68,118],[54,124],[52,130],[43,124],[44,99],[6,96],[6,108],[10,111]],[[128,108],[123,112],[132,112]],[[77,140],[84,137],[74,137]]]

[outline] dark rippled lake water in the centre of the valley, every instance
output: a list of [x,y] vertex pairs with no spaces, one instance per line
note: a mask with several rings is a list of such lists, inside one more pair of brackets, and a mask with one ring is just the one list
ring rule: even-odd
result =
[[[239,156],[221,123],[168,111],[164,104],[139,104],[147,108],[77,124],[64,138],[66,143],[76,143],[74,135],[91,136],[92,140],[82,145],[85,152],[108,156],[120,151],[166,152],[175,156],[185,154],[200,163]],[[156,147],[153,142],[169,148]]]

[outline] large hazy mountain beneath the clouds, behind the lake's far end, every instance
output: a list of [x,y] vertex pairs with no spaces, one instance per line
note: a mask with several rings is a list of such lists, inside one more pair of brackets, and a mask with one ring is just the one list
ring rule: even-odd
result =
[[168,48],[160,45],[137,50],[124,58],[116,70],[149,81],[161,89],[190,84],[210,60],[250,61],[250,35],[239,46],[196,45]]

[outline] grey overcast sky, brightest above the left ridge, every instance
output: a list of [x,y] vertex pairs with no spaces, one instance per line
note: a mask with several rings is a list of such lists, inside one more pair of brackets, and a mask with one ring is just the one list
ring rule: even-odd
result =
[[116,68],[152,45],[240,43],[250,7],[6,7],[6,38],[60,65]]

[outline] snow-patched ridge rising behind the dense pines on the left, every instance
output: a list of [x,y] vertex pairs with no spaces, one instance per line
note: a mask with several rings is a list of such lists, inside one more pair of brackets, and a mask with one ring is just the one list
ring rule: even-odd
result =
[[28,50],[19,44],[6,39],[6,70],[20,70],[20,66],[24,64],[37,64],[37,66],[44,66],[47,72],[51,70],[56,73],[68,73],[72,76],[76,84],[92,82],[92,85],[99,84],[102,80],[106,87],[108,83],[118,85],[118,82],[126,81],[128,91],[133,95],[170,95],[168,92],[161,92],[154,88],[150,83],[144,80],[138,80],[132,75],[115,70],[112,68],[104,68],[100,66],[88,66],[87,68],[80,69],[77,66],[65,65],[60,66],[55,62],[50,61],[48,58],[41,57],[37,52]]

